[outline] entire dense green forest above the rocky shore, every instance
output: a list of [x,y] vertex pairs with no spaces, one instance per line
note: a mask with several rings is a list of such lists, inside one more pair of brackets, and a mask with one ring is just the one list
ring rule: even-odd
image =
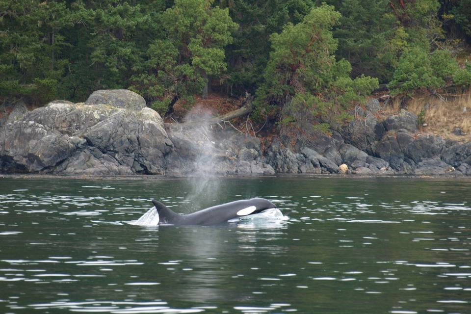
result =
[[467,90],[470,42],[471,0],[0,0],[0,98],[248,92],[254,120],[329,128],[374,90]]

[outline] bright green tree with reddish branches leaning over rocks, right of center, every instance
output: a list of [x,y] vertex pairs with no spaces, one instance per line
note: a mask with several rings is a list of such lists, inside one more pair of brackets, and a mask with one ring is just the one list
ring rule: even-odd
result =
[[345,110],[378,86],[376,78],[349,78],[350,63],[335,60],[332,28],[339,20],[340,13],[323,4],[302,22],[288,23],[283,32],[271,36],[273,51],[257,91],[260,111],[266,104],[277,105],[282,121],[310,120],[337,127],[348,119]]

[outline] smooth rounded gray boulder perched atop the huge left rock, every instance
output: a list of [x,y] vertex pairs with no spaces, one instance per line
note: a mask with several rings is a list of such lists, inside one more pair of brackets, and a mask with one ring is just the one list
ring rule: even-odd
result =
[[144,98],[128,89],[97,90],[85,102],[85,105],[100,104],[131,110],[140,110],[146,107]]

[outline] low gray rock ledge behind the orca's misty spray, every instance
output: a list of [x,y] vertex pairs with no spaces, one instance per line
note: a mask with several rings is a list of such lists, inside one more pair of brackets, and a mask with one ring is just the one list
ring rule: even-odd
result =
[[260,139],[233,129],[204,124],[167,124],[174,149],[166,156],[167,174],[174,176],[273,175],[265,163]]

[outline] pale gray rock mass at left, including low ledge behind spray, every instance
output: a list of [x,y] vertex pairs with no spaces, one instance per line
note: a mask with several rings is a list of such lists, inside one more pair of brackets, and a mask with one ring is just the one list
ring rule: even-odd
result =
[[84,104],[54,101],[0,129],[0,171],[74,175],[274,174],[260,141],[209,126],[169,125],[128,90]]

